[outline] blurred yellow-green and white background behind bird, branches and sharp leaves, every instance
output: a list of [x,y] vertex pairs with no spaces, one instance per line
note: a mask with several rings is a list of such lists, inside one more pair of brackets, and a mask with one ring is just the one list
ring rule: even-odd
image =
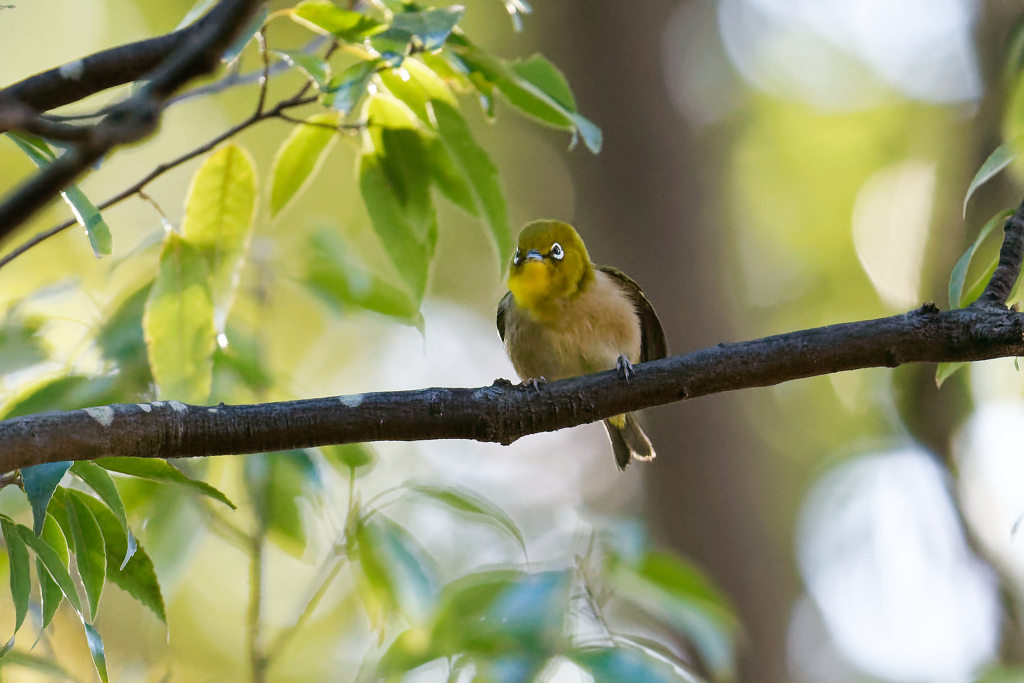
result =
[[[0,11],[0,83],[169,31],[191,5],[16,3]],[[603,147],[588,152],[594,130],[571,116],[545,129],[498,96],[489,122],[489,103],[463,95],[508,224],[575,224],[596,262],[644,286],[674,352],[926,300],[945,306],[957,259],[1019,202],[1019,3],[537,0],[524,9],[472,0],[459,26],[492,54],[550,58],[572,86],[551,116],[579,109]],[[311,35],[274,20],[266,38],[298,63]],[[457,47],[466,50],[445,50]],[[361,58],[342,53],[332,65],[341,73]],[[255,44],[241,63],[259,68]],[[401,97],[395,75],[375,84]],[[304,78],[274,76],[267,101]],[[346,92],[334,93],[336,108]],[[157,137],[104,161],[82,190],[93,201],[121,190],[249,116],[256,95],[248,85],[175,104]],[[429,116],[417,123],[415,102],[409,111],[397,133],[369,142],[362,131],[331,142],[273,120],[237,136],[258,208],[230,316],[211,333],[227,341],[212,356],[211,403],[513,375],[493,325],[504,292],[500,212],[434,180],[437,243],[422,306],[409,295],[422,281],[393,268],[372,201],[368,213],[368,148],[407,148],[401,129],[437,127]],[[390,116],[385,104],[378,115]],[[337,115],[321,116],[333,124]],[[581,136],[571,152],[568,128]],[[301,183],[268,181],[289,139],[327,153],[291,202]],[[1005,142],[1009,171],[977,189],[965,216],[972,177]],[[94,258],[76,229],[0,271],[4,415],[185,399],[157,394],[142,317],[165,222],[187,223],[191,178],[210,158],[146,188],[163,215],[141,200],[104,211],[110,256]],[[297,156],[296,173],[308,159]],[[9,141],[0,163],[3,190],[35,168]],[[24,234],[68,215],[54,205]],[[979,245],[965,291],[998,238],[993,229]],[[166,605],[165,628],[152,594],[108,585],[96,629],[111,678],[1020,680],[1024,380],[1014,366],[961,369],[941,389],[936,368],[907,367],[656,409],[648,422],[660,457],[625,475],[593,426],[507,449],[383,443],[176,464],[237,511],[194,484],[108,463]],[[68,492],[88,484],[102,496],[80,473],[65,476]],[[58,493],[43,539],[67,527],[74,551],[60,510],[94,505],[80,493]],[[33,519],[16,486],[0,493],[0,512],[10,524]],[[104,514],[95,513],[105,535],[114,517]],[[116,524],[108,536],[127,542]],[[118,553],[108,551],[114,582]],[[71,567],[88,609],[89,571]],[[67,602],[30,650],[46,615],[37,585],[0,676],[90,680]],[[17,610],[2,599],[5,633]]]

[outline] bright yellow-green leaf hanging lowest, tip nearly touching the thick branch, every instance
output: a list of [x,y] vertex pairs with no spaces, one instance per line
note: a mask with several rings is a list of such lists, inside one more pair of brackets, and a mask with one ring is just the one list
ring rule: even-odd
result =
[[214,308],[206,256],[171,232],[142,330],[161,398],[203,403],[213,381]]

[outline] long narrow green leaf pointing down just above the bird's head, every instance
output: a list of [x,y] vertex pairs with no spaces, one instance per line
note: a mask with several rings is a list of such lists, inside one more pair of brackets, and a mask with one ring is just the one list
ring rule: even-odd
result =
[[508,205],[498,178],[498,167],[483,147],[473,140],[469,126],[457,109],[440,100],[433,100],[430,105],[437,121],[437,132],[469,183],[477,206],[477,215],[487,225],[498,251],[498,262],[504,270],[515,244],[509,226]]

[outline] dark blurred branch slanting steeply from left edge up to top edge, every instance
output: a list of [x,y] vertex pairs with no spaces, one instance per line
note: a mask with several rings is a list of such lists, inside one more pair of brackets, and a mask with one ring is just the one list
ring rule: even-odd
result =
[[[259,0],[221,0],[215,5],[197,28],[179,39],[165,58],[148,72],[148,83],[138,93],[115,105],[98,123],[83,127],[86,132],[63,156],[4,199],[0,204],[0,240],[46,206],[111,150],[153,133],[167,99],[191,79],[216,68],[224,50],[259,4]],[[65,78],[69,75],[74,76],[66,73]],[[0,91],[0,103],[13,101],[9,99],[9,90]]]

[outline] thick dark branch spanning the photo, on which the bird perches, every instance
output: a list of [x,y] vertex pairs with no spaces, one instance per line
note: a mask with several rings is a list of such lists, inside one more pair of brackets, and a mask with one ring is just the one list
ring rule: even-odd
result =
[[1024,355],[1024,315],[940,312],[934,305],[874,321],[719,345],[615,372],[542,385],[389,391],[258,405],[176,401],[44,413],[0,422],[0,471],[104,456],[178,458],[330,443],[464,438],[511,443],[527,434],[723,391],[907,362]]

